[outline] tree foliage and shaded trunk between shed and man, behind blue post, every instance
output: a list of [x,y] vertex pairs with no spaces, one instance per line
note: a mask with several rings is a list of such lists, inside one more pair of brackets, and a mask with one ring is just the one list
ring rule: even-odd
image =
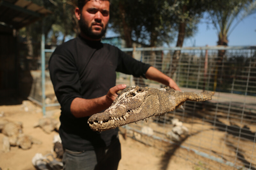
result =
[[31,69],[30,65],[37,65],[38,57],[41,54],[40,42],[43,32],[42,28],[44,28],[46,42],[50,42],[51,44],[61,44],[64,42],[66,35],[74,35],[78,32],[78,24],[74,15],[76,0],[31,1],[52,11],[52,14],[18,30],[20,37],[26,38],[27,50],[24,50],[22,56],[20,56],[21,60],[25,63],[30,63],[26,64],[25,69]]

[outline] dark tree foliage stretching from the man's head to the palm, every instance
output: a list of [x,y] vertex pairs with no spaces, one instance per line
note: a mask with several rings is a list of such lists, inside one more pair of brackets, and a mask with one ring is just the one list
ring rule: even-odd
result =
[[171,43],[178,33],[177,46],[193,35],[202,13],[211,0],[112,0],[110,25],[120,33],[127,47],[132,40],[151,47]]

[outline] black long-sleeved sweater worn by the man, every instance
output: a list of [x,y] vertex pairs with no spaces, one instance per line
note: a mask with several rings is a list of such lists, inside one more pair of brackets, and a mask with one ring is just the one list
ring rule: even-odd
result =
[[116,138],[118,128],[101,133],[92,131],[87,124],[89,117],[72,115],[72,100],[106,95],[116,85],[116,71],[145,78],[149,67],[112,45],[80,36],[57,47],[50,58],[49,70],[61,106],[59,133],[63,146],[75,151],[108,146]]

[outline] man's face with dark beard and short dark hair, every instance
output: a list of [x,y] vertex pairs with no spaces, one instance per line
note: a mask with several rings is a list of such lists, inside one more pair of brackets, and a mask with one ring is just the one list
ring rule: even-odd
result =
[[90,0],[80,14],[81,32],[91,39],[98,40],[105,33],[109,20],[109,1]]

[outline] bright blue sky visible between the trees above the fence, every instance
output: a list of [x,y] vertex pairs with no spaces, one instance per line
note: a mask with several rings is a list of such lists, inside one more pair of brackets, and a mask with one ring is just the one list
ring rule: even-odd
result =
[[[113,37],[117,34],[111,30],[107,31],[106,37]],[[215,46],[217,45],[218,36],[217,31],[213,25],[206,23],[199,23],[198,32],[190,39],[185,40],[183,43],[184,47],[195,46]],[[256,14],[250,15],[244,18],[228,37],[228,46],[256,46]],[[176,42],[175,42],[176,43]],[[173,43],[171,46],[175,46]]]

